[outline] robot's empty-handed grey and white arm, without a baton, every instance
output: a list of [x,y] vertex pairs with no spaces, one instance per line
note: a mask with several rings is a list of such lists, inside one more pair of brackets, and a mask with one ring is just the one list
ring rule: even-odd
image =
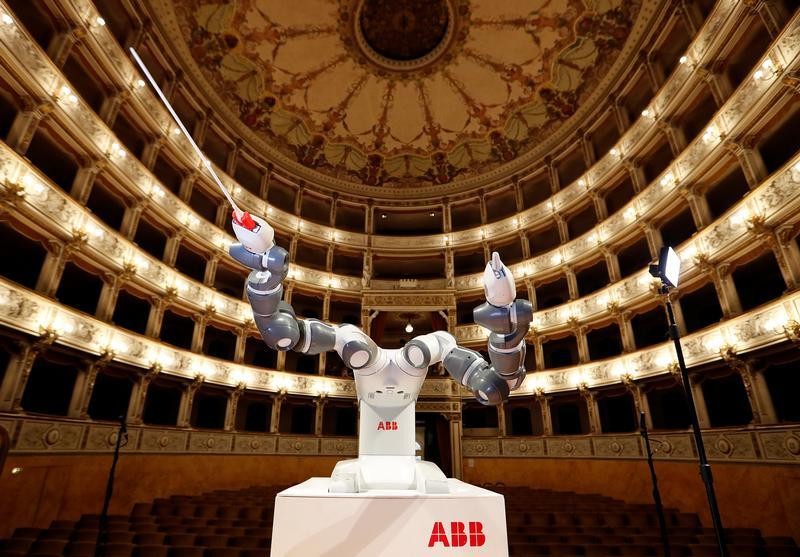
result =
[[514,278],[497,252],[483,274],[486,303],[475,308],[475,322],[491,331],[489,359],[457,346],[443,359],[447,372],[482,404],[496,405],[525,379],[525,335],[533,319],[528,300],[518,300]]

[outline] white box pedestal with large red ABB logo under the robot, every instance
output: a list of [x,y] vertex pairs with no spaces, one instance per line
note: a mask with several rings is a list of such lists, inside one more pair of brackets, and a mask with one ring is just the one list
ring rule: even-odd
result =
[[503,496],[459,480],[450,493],[328,493],[311,478],[275,498],[270,557],[508,557]]

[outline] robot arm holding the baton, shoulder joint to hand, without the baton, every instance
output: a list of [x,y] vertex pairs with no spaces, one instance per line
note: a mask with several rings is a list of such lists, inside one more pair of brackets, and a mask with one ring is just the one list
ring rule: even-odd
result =
[[379,349],[358,327],[297,318],[292,306],[283,301],[289,253],[274,244],[273,230],[266,221],[247,217],[249,221],[242,222],[234,216],[233,231],[240,243],[231,245],[229,253],[239,263],[253,269],[247,277],[247,299],[267,346],[303,354],[335,350],[345,365],[354,370],[374,364]]

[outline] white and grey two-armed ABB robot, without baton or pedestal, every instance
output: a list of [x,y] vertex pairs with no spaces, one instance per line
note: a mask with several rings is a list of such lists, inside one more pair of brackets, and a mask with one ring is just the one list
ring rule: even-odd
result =
[[486,265],[486,303],[474,310],[475,322],[491,331],[489,358],[458,346],[445,331],[410,340],[403,348],[381,348],[354,325],[329,325],[300,319],[282,300],[289,254],[273,242],[274,232],[259,217],[234,211],[233,230],[240,243],[231,256],[253,269],[247,296],[267,346],[303,354],[335,351],[353,370],[359,402],[358,458],[337,463],[329,492],[416,490],[447,493],[447,478],[433,463],[415,457],[415,405],[428,366],[445,370],[486,405],[508,398],[525,378],[525,334],[532,318],[528,300],[515,299],[511,273],[495,252]]

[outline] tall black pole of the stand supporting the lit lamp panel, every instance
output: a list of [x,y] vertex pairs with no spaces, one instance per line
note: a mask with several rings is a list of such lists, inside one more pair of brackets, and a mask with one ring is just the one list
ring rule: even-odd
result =
[[717,547],[719,548],[720,557],[727,557],[728,550],[725,547],[725,534],[722,529],[722,518],[719,514],[717,496],[714,492],[714,478],[711,476],[711,465],[708,463],[708,458],[706,457],[706,448],[705,444],[703,443],[703,436],[700,433],[700,422],[697,419],[697,410],[694,406],[692,386],[689,383],[689,372],[686,370],[686,362],[683,359],[680,333],[678,332],[678,325],[675,323],[675,314],[672,311],[672,302],[670,302],[669,299],[669,285],[662,284],[661,293],[664,294],[664,300],[667,306],[669,336],[672,339],[672,342],[675,344],[675,352],[678,356],[678,365],[681,369],[683,392],[686,396],[686,405],[689,407],[689,420],[692,424],[692,434],[694,435],[694,443],[697,447],[697,457],[700,460],[700,477],[703,478],[703,484],[705,484],[706,488],[706,497],[708,498],[708,508],[711,511],[711,522],[714,526],[714,535],[717,538]]

